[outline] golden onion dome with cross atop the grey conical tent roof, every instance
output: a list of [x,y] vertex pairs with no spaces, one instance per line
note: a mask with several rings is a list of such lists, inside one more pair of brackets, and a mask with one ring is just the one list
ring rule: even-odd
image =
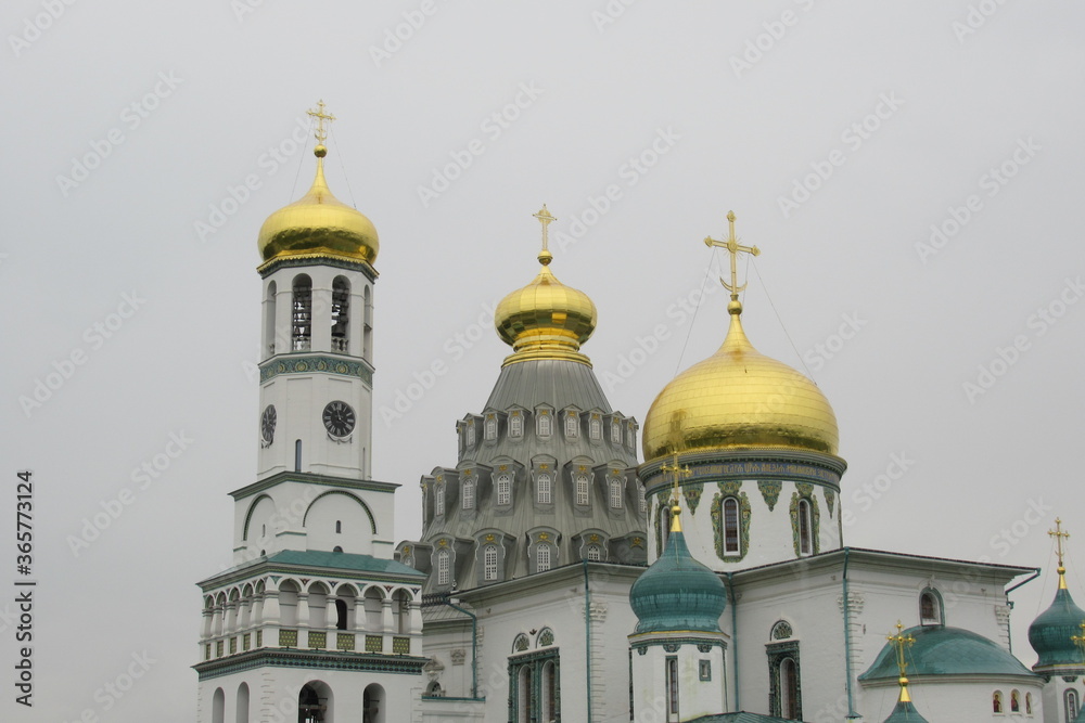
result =
[[596,305],[584,292],[565,286],[553,272],[553,256],[546,248],[546,227],[554,220],[546,206],[535,215],[542,222],[542,264],[535,280],[512,292],[497,305],[494,324],[513,353],[505,365],[533,359],[564,359],[590,365],[579,353],[580,345],[596,330]]

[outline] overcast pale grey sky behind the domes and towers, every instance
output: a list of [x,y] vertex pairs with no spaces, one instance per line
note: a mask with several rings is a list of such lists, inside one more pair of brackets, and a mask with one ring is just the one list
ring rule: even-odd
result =
[[[227,493],[255,474],[256,234],[311,180],[310,137],[295,141],[318,99],[339,117],[329,183],[381,235],[373,469],[404,485],[398,539],[497,378],[493,306],[537,271],[544,202],[551,269],[599,308],[584,351],[641,421],[723,338],[714,273],[695,322],[681,300],[733,209],[763,251],[751,340],[805,359],[839,418],[845,542],[1044,567],[1013,594],[1031,664],[1056,514],[1085,558],[1081,3],[360,5],[0,11],[0,507],[34,469],[39,581],[36,705],[5,687],[0,718],[192,720],[193,583],[229,564]],[[416,399],[382,415],[398,393]],[[1070,584],[1085,601],[1073,557]]]

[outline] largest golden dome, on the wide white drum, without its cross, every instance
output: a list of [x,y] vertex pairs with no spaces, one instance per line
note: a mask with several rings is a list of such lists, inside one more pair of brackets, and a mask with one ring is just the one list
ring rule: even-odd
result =
[[821,390],[787,364],[760,353],[731,301],[719,350],[689,367],[652,402],[643,427],[644,461],[675,452],[736,448],[837,454],[837,415]]

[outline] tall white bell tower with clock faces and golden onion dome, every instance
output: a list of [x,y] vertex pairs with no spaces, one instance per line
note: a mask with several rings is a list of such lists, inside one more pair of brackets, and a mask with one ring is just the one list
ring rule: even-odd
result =
[[201,581],[197,720],[392,720],[422,689],[425,576],[393,559],[373,480],[373,224],[316,178],[259,232],[256,480],[231,492],[233,567]]

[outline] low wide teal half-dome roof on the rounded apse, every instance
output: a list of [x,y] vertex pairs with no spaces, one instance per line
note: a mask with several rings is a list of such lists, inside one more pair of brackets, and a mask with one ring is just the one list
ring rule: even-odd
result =
[[[918,675],[1022,675],[1038,677],[1009,650],[970,630],[918,625],[902,633],[916,642],[908,648],[908,677]],[[896,650],[886,644],[860,681],[897,680]]]

